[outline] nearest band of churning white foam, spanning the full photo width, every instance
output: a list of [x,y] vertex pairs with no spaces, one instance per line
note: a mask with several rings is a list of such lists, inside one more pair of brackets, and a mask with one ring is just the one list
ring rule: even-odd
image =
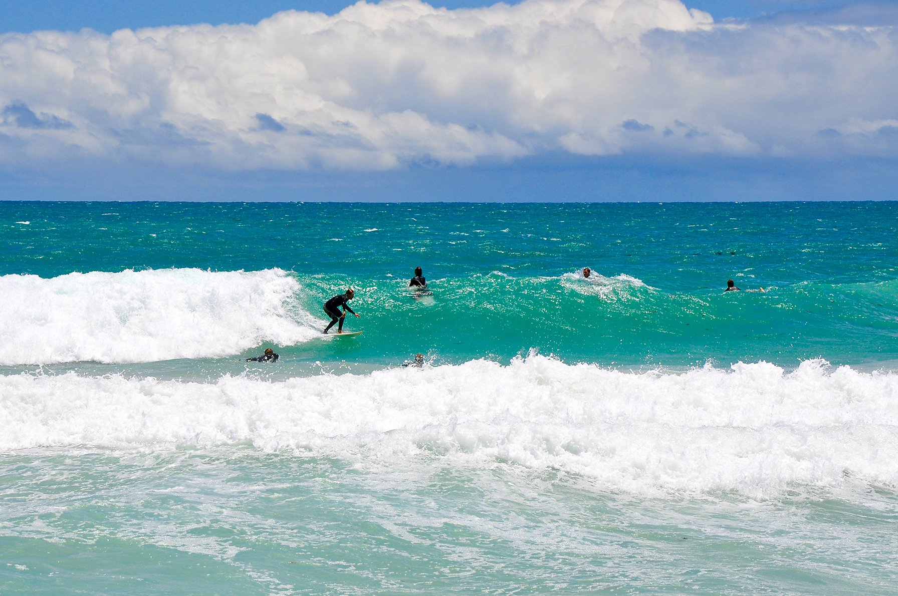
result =
[[0,449],[251,443],[387,463],[560,469],[635,493],[898,485],[898,375],[808,361],[627,373],[531,355],[507,366],[214,383],[0,377]]

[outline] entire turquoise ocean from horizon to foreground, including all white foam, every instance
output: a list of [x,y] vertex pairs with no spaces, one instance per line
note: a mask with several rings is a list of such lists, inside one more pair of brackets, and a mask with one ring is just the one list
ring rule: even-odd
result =
[[896,228],[2,202],[0,593],[898,593]]

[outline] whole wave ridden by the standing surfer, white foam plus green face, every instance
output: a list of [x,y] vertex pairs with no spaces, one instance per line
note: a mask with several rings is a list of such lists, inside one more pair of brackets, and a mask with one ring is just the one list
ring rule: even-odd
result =
[[[357,288],[364,341],[311,342],[321,303]],[[149,363],[242,355],[262,344],[285,361],[399,363],[429,352],[459,363],[507,361],[538,347],[568,360],[615,365],[694,365],[826,355],[857,363],[898,355],[898,282],[798,284],[765,294],[669,294],[634,276],[484,276],[431,282],[298,276],[281,269],[196,268],[0,276],[0,364]],[[883,307],[882,304],[886,306]],[[835,324],[833,324],[835,323]],[[228,371],[239,373],[239,371]]]

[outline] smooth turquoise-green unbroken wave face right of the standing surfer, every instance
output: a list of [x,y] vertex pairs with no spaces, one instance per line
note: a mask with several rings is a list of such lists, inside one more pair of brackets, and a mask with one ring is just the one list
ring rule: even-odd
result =
[[[674,293],[636,276],[513,276],[497,271],[432,280],[414,296],[405,279],[360,279],[353,308],[365,329],[352,357],[401,362],[431,353],[459,363],[507,362],[531,347],[568,362],[695,366],[825,357],[839,364],[898,359],[898,282],[768,286],[769,291]],[[301,278],[310,312],[338,278]],[[316,353],[318,358],[330,358]],[[309,352],[308,357],[313,357]],[[344,356],[345,357],[345,356]]]

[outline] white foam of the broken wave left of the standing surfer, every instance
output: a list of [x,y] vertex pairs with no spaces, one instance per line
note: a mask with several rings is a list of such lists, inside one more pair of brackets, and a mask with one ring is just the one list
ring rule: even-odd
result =
[[317,335],[279,269],[0,276],[0,364],[154,362]]

